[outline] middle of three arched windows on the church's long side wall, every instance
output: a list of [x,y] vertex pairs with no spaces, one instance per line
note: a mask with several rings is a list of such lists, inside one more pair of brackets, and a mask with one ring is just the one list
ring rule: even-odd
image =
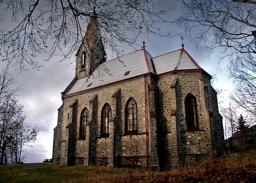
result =
[[101,111],[101,135],[109,135],[109,120],[111,118],[111,108],[108,103],[106,103]]

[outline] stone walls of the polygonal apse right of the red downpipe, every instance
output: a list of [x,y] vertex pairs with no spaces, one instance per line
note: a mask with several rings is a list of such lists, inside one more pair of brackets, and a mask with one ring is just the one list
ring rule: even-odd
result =
[[[212,133],[220,125],[213,129],[211,123],[220,124],[222,121],[216,111],[216,95],[211,90],[206,95],[205,85],[211,88],[210,78],[201,72],[169,74],[158,78],[156,101],[160,166],[168,166],[171,162],[175,166],[184,160],[196,159],[196,154],[196,157],[202,158],[213,154]],[[187,130],[185,113],[184,102],[189,93],[196,97],[197,104],[198,130],[193,131]],[[209,111],[215,116],[211,121]],[[221,129],[218,134],[221,134]]]

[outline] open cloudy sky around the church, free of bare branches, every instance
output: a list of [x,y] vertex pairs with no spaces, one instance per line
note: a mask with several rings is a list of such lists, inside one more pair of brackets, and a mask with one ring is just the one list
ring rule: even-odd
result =
[[[156,8],[172,9],[166,14],[165,19],[174,21],[175,16],[179,14],[179,4],[177,1],[155,0]],[[3,12],[3,11],[2,11]],[[1,12],[1,15],[2,15]],[[3,16],[2,16],[3,19]],[[5,20],[0,21],[0,26],[6,25]],[[225,76],[226,63],[221,63],[217,67],[217,57],[207,59],[206,54],[196,50],[195,45],[190,42],[190,38],[185,35],[184,30],[180,30],[173,24],[161,27],[162,30],[168,30],[171,34],[181,33],[185,44],[185,50],[190,56],[209,74],[217,74],[218,81],[215,81],[214,87],[221,89],[232,88],[229,79]],[[159,56],[177,49],[181,49],[181,35],[175,37],[150,36],[150,41],[146,36],[138,38],[137,43],[142,45],[146,42],[146,50],[153,56]],[[137,46],[136,49],[141,47]],[[108,59],[111,59],[111,50],[106,50]],[[133,48],[125,48],[125,54],[134,51]],[[73,58],[75,60],[75,57]],[[24,106],[24,113],[27,114],[27,121],[32,125],[37,125],[40,129],[38,133],[39,141],[33,144],[33,147],[25,147],[27,149],[25,162],[42,162],[44,159],[52,158],[53,148],[53,129],[57,125],[57,109],[62,105],[61,92],[68,86],[75,76],[73,69],[74,64],[69,62],[58,62],[58,58],[51,61],[42,62],[43,67],[39,70],[30,68],[28,73],[17,75],[16,71],[12,71],[17,76],[17,82],[21,85],[19,101]],[[4,65],[4,63],[1,63]],[[224,96],[229,95],[229,90]]]

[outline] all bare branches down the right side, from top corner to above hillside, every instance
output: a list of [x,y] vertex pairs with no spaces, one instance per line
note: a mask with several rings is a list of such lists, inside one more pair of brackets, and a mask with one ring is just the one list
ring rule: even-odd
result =
[[[197,48],[229,60],[234,84],[231,99],[250,115],[256,109],[256,1],[181,0],[177,24],[193,37]],[[195,31],[195,32],[194,32]]]

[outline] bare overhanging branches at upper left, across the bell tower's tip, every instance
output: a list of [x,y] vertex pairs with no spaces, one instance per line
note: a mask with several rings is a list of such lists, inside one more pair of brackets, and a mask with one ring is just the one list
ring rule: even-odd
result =
[[120,42],[134,45],[140,34],[171,36],[156,25],[168,22],[162,15],[170,9],[155,11],[153,0],[3,0],[0,4],[16,23],[0,31],[0,55],[21,72],[28,65],[41,67],[38,56],[42,53],[47,54],[44,60],[70,59],[83,41],[85,25],[95,15],[105,43],[118,56],[123,49]]

